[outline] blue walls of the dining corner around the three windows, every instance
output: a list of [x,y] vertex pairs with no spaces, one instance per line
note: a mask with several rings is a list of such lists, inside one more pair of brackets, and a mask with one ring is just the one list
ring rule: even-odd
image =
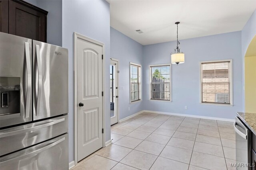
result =
[[[176,41],[142,46],[114,28],[110,28],[110,54],[119,60],[120,119],[141,110],[183,113],[234,119],[242,111],[241,31],[185,39],[180,41],[185,63],[172,65],[172,102],[149,100],[149,65],[170,63]],[[233,59],[234,106],[202,105],[200,102],[200,61]],[[142,104],[130,105],[129,62],[142,64]],[[189,88],[188,88],[189,85]],[[188,106],[188,109],[185,109]],[[130,107],[130,111],[128,111]]]

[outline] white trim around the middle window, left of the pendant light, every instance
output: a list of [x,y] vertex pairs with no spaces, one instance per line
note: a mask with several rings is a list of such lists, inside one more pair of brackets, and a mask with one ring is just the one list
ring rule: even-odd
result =
[[[151,68],[152,66],[170,66],[170,100],[155,100],[151,99]],[[154,102],[172,102],[172,64],[151,64],[148,66],[149,70],[149,95],[148,100]]]

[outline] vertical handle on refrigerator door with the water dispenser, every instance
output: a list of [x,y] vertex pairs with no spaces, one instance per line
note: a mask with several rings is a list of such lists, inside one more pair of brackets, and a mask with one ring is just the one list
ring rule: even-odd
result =
[[25,55],[26,55],[26,66],[27,66],[27,92],[26,92],[26,107],[25,107],[25,118],[29,117],[30,111],[30,98],[31,98],[31,63],[29,54],[29,43],[25,42]]

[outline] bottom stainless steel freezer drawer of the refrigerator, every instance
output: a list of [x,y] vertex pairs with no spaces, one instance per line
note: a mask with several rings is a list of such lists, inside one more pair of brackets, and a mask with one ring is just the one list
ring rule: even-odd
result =
[[68,133],[0,157],[1,170],[68,170]]

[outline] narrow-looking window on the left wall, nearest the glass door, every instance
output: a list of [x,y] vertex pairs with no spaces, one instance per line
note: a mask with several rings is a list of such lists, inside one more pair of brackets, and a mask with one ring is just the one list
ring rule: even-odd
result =
[[141,100],[141,65],[130,63],[130,102]]

